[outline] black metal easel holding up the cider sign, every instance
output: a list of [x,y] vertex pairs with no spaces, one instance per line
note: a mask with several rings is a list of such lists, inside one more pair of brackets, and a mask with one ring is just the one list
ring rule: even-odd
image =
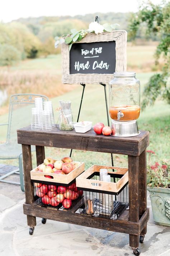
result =
[[[95,21],[99,23],[99,16],[95,17]],[[82,95],[81,95],[81,101],[80,101],[80,107],[79,107],[79,114],[77,117],[77,122],[79,122],[79,116],[80,116],[80,110],[81,110],[81,104],[82,104],[82,99],[83,99],[83,95],[84,95],[84,89],[85,89],[85,84],[81,83],[81,85],[83,86],[83,90],[82,90]],[[105,94],[105,103],[106,103],[106,111],[107,111],[107,119],[108,119],[108,126],[109,126],[109,111],[108,111],[108,102],[107,102],[107,93],[106,93],[106,84],[103,84],[102,82],[100,82],[100,85],[104,86],[104,94]],[[72,154],[72,149],[70,152],[70,157]],[[113,154],[111,153],[111,160],[112,160],[112,166],[114,166],[113,164]],[[114,170],[113,170],[114,171]]]

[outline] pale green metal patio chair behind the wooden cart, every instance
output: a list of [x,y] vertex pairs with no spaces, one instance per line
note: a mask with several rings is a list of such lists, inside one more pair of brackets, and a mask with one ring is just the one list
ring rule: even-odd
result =
[[[22,145],[17,142],[16,130],[30,125],[31,122],[31,108],[34,107],[34,99],[36,97],[43,98],[43,101],[48,100],[47,96],[39,94],[14,94],[10,97],[9,104],[9,117],[8,123],[1,125],[8,125],[6,142],[0,144],[0,159],[19,159],[19,168],[0,176],[0,181],[11,184],[18,184],[24,192],[24,179],[23,179],[23,163],[22,163]],[[32,151],[35,147],[32,147]],[[20,183],[15,181],[4,180],[11,174],[20,175]]]

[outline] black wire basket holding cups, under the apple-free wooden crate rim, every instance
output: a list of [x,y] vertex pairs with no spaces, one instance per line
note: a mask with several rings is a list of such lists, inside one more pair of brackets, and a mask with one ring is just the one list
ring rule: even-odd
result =
[[[110,182],[117,182],[120,178],[116,172],[110,173]],[[88,179],[99,180],[99,172],[94,172]],[[95,182],[93,183],[95,184]],[[119,190],[119,192],[108,192],[104,190],[81,188],[83,197],[79,201],[79,213],[91,215],[94,217],[117,220],[128,208],[128,182]],[[78,188],[79,189],[79,188]]]

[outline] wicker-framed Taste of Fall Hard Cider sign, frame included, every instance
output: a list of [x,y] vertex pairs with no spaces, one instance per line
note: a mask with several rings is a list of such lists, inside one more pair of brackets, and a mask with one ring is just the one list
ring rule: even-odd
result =
[[62,82],[64,84],[108,83],[113,73],[126,71],[127,32],[116,30],[89,33],[69,46],[62,44]]

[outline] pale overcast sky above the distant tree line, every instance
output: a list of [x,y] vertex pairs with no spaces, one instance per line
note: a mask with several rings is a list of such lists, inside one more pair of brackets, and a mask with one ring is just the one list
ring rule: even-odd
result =
[[[137,12],[140,0],[0,0],[0,21],[95,12]],[[160,4],[161,0],[152,0]]]

